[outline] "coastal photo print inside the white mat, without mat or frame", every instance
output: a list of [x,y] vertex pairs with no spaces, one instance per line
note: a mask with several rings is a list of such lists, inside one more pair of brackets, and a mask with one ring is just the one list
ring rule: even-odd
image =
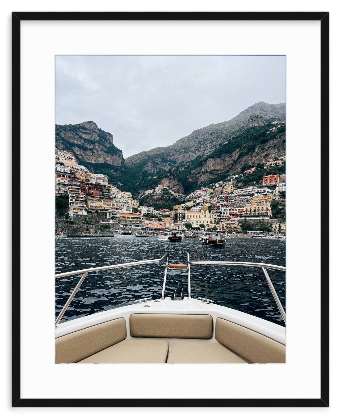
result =
[[56,55],[55,124],[55,363],[284,364],[285,55]]

